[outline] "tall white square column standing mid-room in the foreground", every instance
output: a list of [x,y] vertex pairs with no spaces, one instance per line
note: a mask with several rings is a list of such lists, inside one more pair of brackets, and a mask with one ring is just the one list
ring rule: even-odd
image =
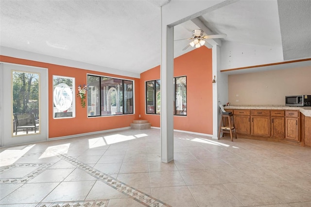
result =
[[173,160],[173,27],[161,25],[161,161]]

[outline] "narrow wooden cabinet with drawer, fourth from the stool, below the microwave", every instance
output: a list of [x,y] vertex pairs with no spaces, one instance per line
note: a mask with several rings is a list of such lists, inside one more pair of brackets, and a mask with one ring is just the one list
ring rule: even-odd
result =
[[285,138],[299,141],[299,111],[285,111]]

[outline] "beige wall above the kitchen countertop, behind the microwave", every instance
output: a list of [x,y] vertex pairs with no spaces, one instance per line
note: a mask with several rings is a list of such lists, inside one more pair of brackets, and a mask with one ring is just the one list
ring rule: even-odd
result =
[[311,67],[228,76],[231,105],[285,105],[286,95],[311,95]]

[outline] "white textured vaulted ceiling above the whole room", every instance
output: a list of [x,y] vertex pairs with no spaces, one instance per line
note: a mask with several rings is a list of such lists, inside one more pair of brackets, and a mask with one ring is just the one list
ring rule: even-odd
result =
[[[160,6],[169,3],[1,0],[0,45],[141,73],[160,64]],[[279,46],[284,60],[310,58],[310,14],[310,0],[237,0],[175,26],[174,39],[201,22],[207,35],[226,34],[222,41]],[[193,50],[182,51],[187,44],[175,41],[174,56]]]

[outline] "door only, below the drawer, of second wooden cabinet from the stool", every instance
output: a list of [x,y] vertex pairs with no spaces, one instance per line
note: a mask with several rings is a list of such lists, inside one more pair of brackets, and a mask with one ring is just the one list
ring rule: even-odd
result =
[[252,116],[252,135],[270,137],[270,117]]

